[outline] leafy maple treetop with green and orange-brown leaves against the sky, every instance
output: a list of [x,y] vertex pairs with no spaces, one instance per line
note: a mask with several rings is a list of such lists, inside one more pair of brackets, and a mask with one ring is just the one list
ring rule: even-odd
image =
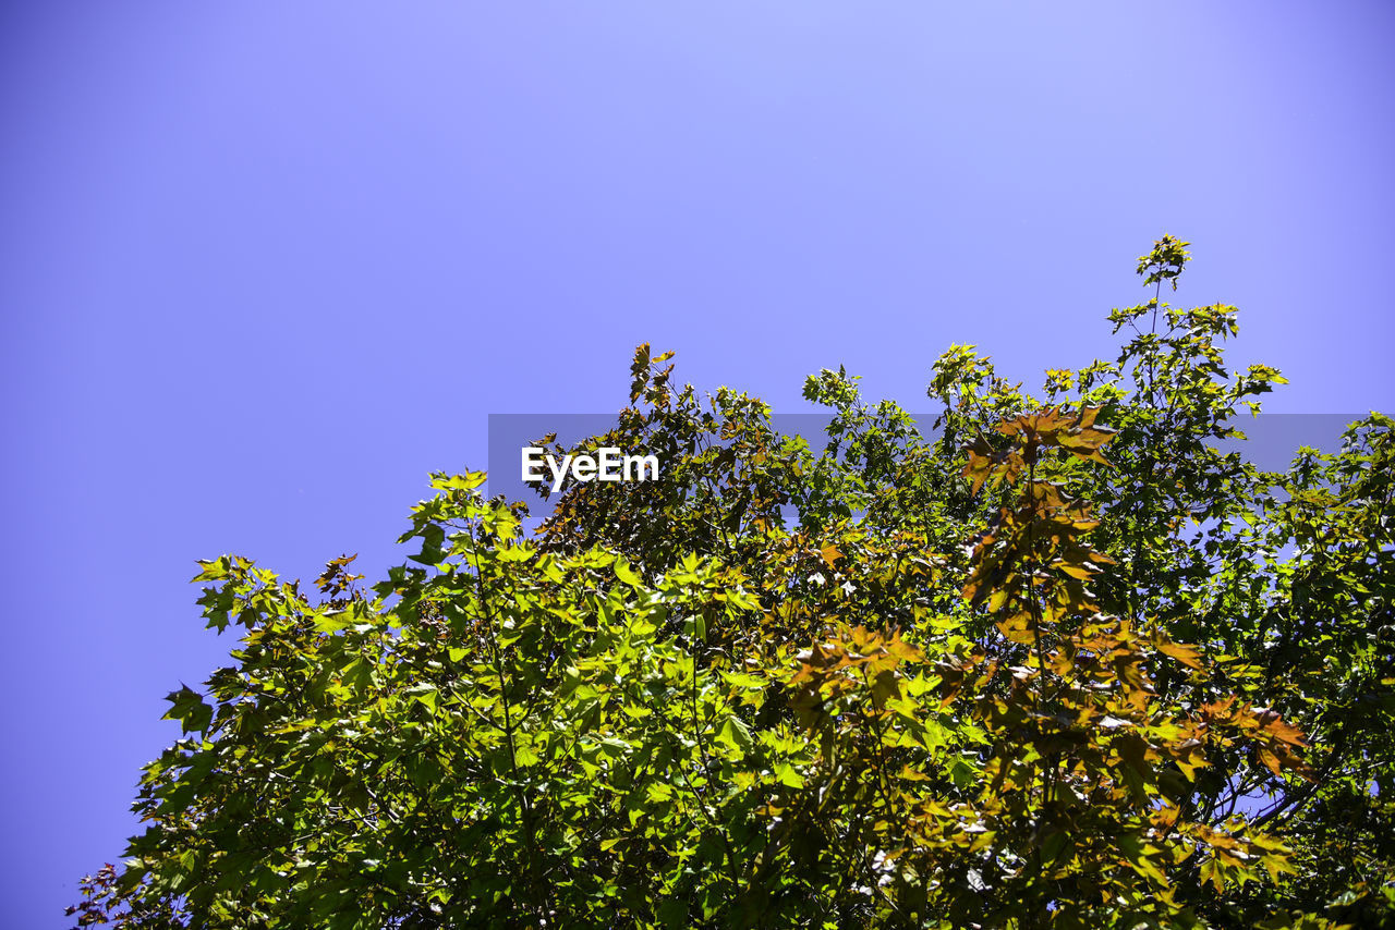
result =
[[[1119,357],[1041,397],[970,346],[939,435],[823,371],[815,450],[671,382],[533,538],[437,474],[371,587],[201,563],[234,664],[169,696],[127,927],[1395,926],[1392,422],[1264,473],[1208,441],[1236,311],[1140,261]],[[545,442],[552,442],[548,438]],[[544,492],[544,498],[548,495]],[[785,514],[797,513],[797,520]]]

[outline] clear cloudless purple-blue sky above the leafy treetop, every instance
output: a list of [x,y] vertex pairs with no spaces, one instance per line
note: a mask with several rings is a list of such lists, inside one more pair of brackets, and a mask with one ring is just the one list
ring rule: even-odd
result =
[[485,416],[638,342],[798,411],[976,343],[1110,356],[1134,258],[1242,308],[1275,411],[1395,409],[1388,3],[10,3],[0,923],[119,860],[194,559],[370,574]]

